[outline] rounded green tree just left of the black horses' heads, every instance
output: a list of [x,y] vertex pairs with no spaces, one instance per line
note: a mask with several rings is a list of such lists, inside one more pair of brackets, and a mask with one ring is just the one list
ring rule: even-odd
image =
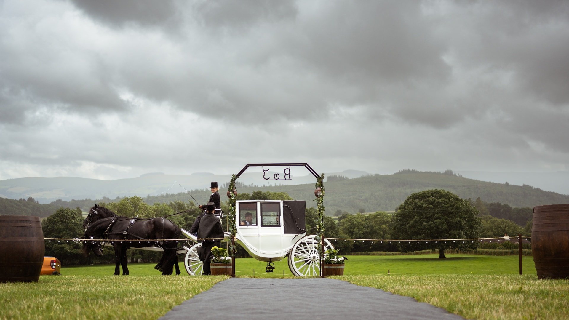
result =
[[[42,220],[43,236],[46,238],[73,239],[83,235],[81,209],[60,208]],[[46,240],[46,256],[56,257],[63,265],[77,264],[82,259],[77,244],[66,240]]]

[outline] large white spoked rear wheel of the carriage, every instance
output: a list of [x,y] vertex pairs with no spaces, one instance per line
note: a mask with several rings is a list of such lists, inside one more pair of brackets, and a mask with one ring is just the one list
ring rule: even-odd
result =
[[[296,277],[309,277],[320,275],[320,253],[316,235],[306,236],[296,241],[288,253],[288,268]],[[324,238],[324,251],[334,246]]]

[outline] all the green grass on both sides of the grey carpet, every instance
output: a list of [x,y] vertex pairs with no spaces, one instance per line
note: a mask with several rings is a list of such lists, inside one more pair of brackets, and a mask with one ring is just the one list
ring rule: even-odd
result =
[[[466,318],[562,319],[569,314],[569,280],[538,280],[532,257],[447,255],[348,256],[345,276],[443,307]],[[183,268],[182,264],[180,266]],[[287,261],[237,259],[237,276],[290,276]],[[154,264],[129,264],[130,276],[111,276],[114,265],[65,267],[38,283],[0,284],[0,319],[156,319],[225,277],[160,276]],[[387,276],[387,270],[391,275]],[[119,310],[119,311],[114,311]],[[141,311],[142,310],[142,311]],[[118,313],[116,313],[118,312]]]

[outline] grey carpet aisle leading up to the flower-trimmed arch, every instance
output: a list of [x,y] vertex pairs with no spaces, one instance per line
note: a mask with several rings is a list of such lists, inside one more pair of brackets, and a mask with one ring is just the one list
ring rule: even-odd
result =
[[335,279],[230,278],[175,306],[160,319],[463,318],[410,297]]

